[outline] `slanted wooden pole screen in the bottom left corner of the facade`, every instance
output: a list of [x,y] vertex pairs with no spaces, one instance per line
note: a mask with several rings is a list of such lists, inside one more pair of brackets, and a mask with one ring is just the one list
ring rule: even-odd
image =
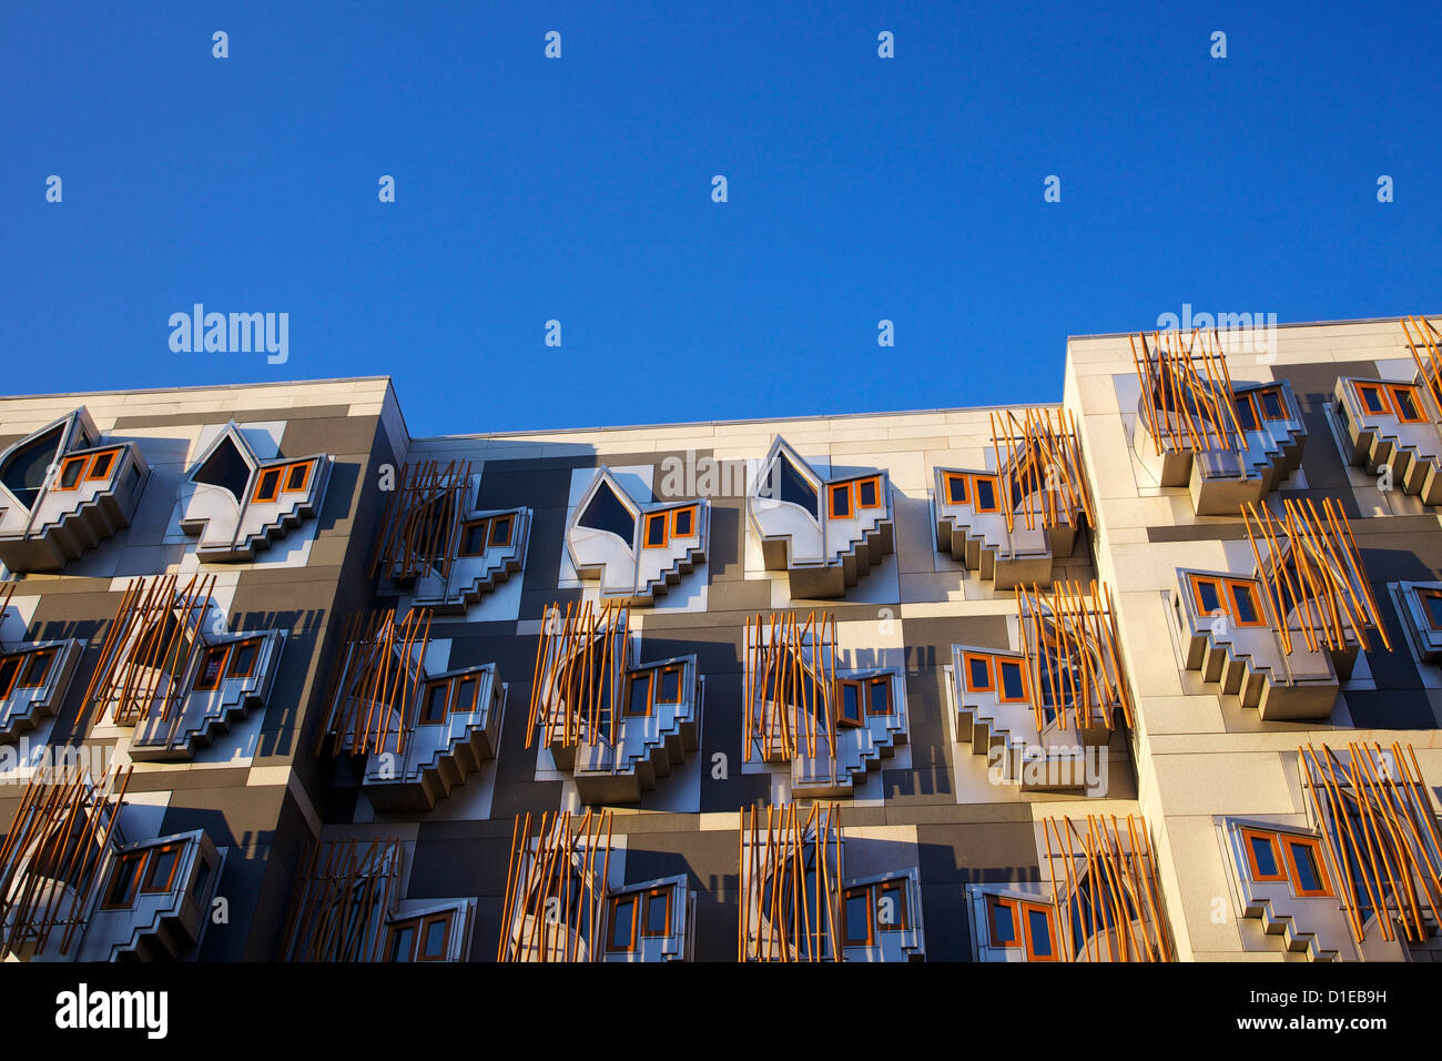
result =
[[101,787],[79,769],[42,771],[26,784],[0,844],[0,960],[43,951],[56,930],[69,954],[108,868],[133,769]]

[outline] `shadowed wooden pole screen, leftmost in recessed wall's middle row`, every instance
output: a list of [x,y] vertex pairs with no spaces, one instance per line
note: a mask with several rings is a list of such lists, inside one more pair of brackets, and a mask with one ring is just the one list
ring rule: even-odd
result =
[[316,754],[405,754],[415,729],[417,689],[431,637],[431,611],[412,608],[352,615],[336,654]]

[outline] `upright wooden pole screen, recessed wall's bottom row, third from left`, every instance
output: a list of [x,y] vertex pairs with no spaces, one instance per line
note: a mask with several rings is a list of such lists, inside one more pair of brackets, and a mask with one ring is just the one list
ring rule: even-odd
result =
[[740,961],[841,960],[841,811],[741,811]]

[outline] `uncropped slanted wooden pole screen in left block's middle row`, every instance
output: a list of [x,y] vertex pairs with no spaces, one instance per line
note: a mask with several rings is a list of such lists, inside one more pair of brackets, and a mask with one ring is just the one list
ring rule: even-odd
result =
[[115,725],[169,719],[183,700],[192,660],[205,648],[213,575],[131,579],[105,631],[99,661],[85,687],[87,706],[110,707]]

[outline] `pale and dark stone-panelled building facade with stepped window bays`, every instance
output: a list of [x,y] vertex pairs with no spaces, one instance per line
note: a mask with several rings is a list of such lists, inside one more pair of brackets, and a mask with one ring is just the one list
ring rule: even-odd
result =
[[1436,328],[1237,338],[609,430],[6,398],[0,951],[1430,960]]

